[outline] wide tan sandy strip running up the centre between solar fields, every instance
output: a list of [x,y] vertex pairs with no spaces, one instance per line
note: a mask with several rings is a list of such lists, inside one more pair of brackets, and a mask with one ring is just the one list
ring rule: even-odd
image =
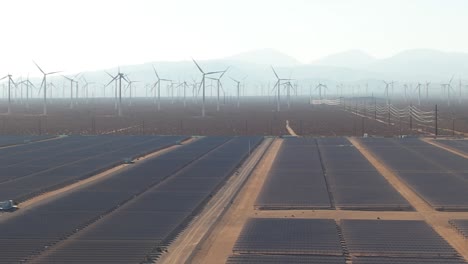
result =
[[232,247],[244,223],[249,217],[255,216],[254,202],[267,178],[281,143],[281,139],[275,139],[229,210],[204,243],[199,246],[199,251],[194,255],[192,263],[224,263],[227,257],[231,255]]

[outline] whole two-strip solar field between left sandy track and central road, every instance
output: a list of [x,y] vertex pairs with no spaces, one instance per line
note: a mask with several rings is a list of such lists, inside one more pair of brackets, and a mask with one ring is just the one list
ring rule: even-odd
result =
[[[252,146],[260,141],[235,138],[225,143],[229,139],[197,140],[1,224],[0,233],[5,230],[6,236],[0,244],[11,240],[35,242],[23,246],[13,243],[10,251],[16,253],[1,256],[0,260],[5,258],[9,263],[13,257],[35,257],[39,263],[139,263],[147,255],[158,256],[160,248],[180,232],[229,170],[248,154],[248,141]],[[217,165],[219,170],[214,174],[200,177],[192,170],[202,168],[200,163],[211,166],[220,157],[230,160]],[[27,222],[32,224],[26,226]],[[73,233],[63,246],[44,252]]]

